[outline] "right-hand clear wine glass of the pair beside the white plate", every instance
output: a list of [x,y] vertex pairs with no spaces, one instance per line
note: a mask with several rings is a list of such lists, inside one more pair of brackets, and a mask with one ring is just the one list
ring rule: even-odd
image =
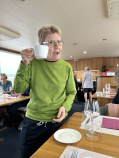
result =
[[86,135],[88,137],[98,137],[99,136],[99,133],[98,132],[95,132],[93,130],[93,120],[94,118],[98,117],[100,112],[99,112],[99,104],[98,104],[98,101],[97,100],[93,100],[93,103],[90,104],[90,110],[91,110],[91,115],[90,115],[90,120],[91,120],[91,130],[88,130],[86,131]]

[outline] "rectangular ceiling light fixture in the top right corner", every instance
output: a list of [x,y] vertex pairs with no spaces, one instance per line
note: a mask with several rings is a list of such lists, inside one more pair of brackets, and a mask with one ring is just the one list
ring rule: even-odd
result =
[[108,17],[110,19],[119,18],[119,0],[107,0]]

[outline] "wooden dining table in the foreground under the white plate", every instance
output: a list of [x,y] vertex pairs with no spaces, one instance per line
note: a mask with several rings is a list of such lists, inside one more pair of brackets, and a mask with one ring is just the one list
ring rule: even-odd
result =
[[[73,143],[63,143],[54,138],[54,134],[31,156],[31,158],[59,158],[67,146],[119,158],[119,136],[99,132],[96,138],[86,136],[86,130],[81,129],[81,112],[75,112],[60,129],[74,129],[81,134],[81,139]],[[58,130],[60,130],[58,129]]]

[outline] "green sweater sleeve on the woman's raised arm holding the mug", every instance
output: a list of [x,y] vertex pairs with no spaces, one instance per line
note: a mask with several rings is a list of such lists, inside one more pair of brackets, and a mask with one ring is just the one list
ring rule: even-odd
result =
[[30,86],[30,79],[31,63],[24,65],[21,62],[14,79],[14,91],[16,93],[23,93]]

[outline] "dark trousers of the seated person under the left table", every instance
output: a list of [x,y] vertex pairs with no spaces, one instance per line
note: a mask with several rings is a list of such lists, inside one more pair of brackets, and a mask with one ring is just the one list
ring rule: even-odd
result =
[[19,126],[19,123],[23,120],[23,118],[17,112],[17,109],[20,107],[26,107],[28,102],[29,99],[13,103],[7,107],[7,112],[10,115],[10,117],[14,120],[14,125],[16,128]]

